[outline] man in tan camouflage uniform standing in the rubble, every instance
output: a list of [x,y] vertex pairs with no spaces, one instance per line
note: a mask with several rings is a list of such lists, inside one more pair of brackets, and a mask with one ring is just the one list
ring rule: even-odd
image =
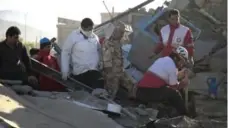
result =
[[131,93],[135,80],[124,72],[122,43],[126,34],[127,26],[118,22],[113,26],[112,33],[106,37],[102,45],[103,70],[105,78],[105,87],[115,98],[119,86],[125,87]]

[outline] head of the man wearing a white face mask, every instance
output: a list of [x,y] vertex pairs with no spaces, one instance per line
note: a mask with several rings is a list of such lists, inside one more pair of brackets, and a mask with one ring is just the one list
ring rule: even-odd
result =
[[84,18],[81,22],[81,32],[89,37],[93,33],[94,23],[90,18]]

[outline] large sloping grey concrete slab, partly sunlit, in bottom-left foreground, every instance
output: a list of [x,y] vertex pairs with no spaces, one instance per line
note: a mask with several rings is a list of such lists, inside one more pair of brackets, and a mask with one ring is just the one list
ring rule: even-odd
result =
[[[0,117],[14,122],[17,128],[122,128],[107,115],[67,100],[27,96],[33,101],[30,102],[9,88],[2,85],[0,88]],[[85,123],[85,120],[89,123]]]

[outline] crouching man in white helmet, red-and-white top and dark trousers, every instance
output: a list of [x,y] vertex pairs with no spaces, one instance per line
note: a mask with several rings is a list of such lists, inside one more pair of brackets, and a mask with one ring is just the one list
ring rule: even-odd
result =
[[[179,90],[188,84],[188,76],[178,82],[178,69],[183,68],[185,59],[177,52],[157,59],[149,67],[138,83],[136,98],[146,103],[168,102],[180,115],[186,115],[187,109]],[[184,52],[188,55],[187,50]]]

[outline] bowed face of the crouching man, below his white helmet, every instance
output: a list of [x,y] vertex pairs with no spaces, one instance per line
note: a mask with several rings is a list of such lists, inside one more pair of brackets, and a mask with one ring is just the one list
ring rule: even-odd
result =
[[169,57],[172,58],[172,60],[174,61],[175,65],[177,66],[178,69],[182,69],[186,64],[184,57],[182,57],[176,51],[172,51],[172,53],[169,55]]

